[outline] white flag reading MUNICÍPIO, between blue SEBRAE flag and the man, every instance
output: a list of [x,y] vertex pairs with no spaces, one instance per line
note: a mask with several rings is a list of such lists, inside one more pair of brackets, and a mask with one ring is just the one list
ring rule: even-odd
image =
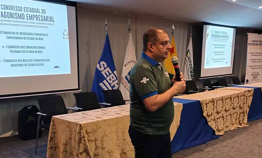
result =
[[122,74],[121,74],[121,81],[119,85],[119,90],[121,90],[121,93],[123,95],[124,99],[130,99],[129,98],[129,85],[130,85],[130,72],[133,68],[134,64],[137,62],[136,54],[134,50],[134,43],[132,38],[132,33],[129,34],[129,40],[128,40],[128,46],[126,48],[125,52],[125,61],[123,64]]

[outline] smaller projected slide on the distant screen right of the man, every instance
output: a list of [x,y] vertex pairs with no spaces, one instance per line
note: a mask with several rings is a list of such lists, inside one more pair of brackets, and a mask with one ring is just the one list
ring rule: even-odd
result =
[[233,28],[207,26],[204,68],[231,66]]

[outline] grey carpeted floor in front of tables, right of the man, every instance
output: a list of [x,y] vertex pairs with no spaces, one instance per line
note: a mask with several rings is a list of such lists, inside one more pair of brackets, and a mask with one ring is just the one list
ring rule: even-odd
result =
[[176,152],[172,158],[262,158],[262,119],[227,131],[219,139]]

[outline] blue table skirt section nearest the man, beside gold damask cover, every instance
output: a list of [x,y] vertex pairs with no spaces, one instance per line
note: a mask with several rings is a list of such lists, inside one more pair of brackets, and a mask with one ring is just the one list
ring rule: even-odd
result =
[[180,125],[171,141],[172,153],[199,146],[220,136],[215,135],[203,115],[200,101],[173,98],[174,102],[183,103]]

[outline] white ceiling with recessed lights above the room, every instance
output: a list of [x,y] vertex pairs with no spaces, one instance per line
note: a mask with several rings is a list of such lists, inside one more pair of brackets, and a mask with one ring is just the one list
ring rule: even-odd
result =
[[[73,0],[78,7],[262,30],[262,0]],[[130,13],[132,12],[132,13]],[[142,13],[139,13],[142,12]]]

